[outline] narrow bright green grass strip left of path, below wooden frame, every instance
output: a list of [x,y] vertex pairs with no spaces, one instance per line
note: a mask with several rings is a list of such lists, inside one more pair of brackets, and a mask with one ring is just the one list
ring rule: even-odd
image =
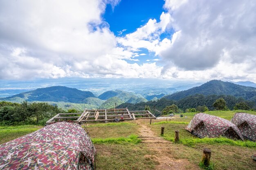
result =
[[138,139],[137,135],[130,135],[128,137],[117,137],[117,138],[92,138],[93,144],[139,144],[141,139]]

